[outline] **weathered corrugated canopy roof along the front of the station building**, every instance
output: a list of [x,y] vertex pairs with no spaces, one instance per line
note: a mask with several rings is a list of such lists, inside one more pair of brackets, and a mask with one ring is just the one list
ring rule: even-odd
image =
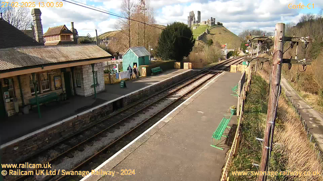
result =
[[0,49],[0,71],[110,56],[111,54],[93,44]]

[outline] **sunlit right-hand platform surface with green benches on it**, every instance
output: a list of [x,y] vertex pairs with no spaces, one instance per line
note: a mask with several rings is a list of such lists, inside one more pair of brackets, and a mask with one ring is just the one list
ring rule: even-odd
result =
[[[211,135],[223,115],[230,114],[229,107],[237,105],[230,94],[240,77],[221,73],[96,168],[116,171],[114,177],[87,175],[82,180],[219,180],[230,145],[223,139],[224,151],[211,147]],[[231,124],[236,121],[232,117]],[[135,169],[135,175],[120,175],[121,169]]]

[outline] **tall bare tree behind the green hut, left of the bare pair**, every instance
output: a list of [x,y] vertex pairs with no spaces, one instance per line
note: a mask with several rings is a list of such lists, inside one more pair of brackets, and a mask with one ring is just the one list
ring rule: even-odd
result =
[[134,13],[134,2],[133,0],[123,0],[121,4],[121,16],[124,18],[119,18],[116,28],[121,32],[121,35],[118,37],[120,43],[124,48],[131,47],[131,24],[130,20]]

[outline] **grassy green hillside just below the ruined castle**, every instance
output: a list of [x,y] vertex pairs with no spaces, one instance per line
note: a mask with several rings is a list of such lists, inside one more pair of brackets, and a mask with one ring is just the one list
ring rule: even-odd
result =
[[207,39],[212,39],[214,42],[213,44],[219,42],[220,45],[225,45],[227,43],[228,49],[238,49],[240,47],[242,40],[237,35],[235,35],[223,26],[198,26],[195,30],[193,30],[193,37],[196,39],[206,29],[210,31],[210,34],[203,38],[204,42],[206,42]]

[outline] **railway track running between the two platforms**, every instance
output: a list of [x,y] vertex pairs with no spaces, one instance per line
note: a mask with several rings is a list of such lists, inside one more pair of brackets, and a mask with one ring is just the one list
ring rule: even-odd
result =
[[[138,135],[147,126],[149,127],[156,120],[159,120],[160,116],[166,115],[174,106],[180,104],[181,100],[183,102],[186,97],[194,94],[198,87],[206,84],[212,77],[216,76],[218,72],[214,70],[224,70],[230,64],[240,63],[242,60],[242,57],[236,57],[201,70],[195,75],[112,114],[106,119],[62,140],[60,143],[49,147],[24,162],[49,163],[52,165],[51,169],[72,171],[80,168],[84,170],[96,167],[100,162],[98,160],[106,160],[113,153],[106,152],[108,148],[111,150],[110,147],[118,142],[123,144],[129,142],[132,139],[131,137]],[[116,147],[120,147],[123,144],[119,144]],[[118,148],[115,148],[115,150],[117,151]],[[6,178],[6,180],[34,179],[62,180],[65,177],[62,175],[38,175]]]

